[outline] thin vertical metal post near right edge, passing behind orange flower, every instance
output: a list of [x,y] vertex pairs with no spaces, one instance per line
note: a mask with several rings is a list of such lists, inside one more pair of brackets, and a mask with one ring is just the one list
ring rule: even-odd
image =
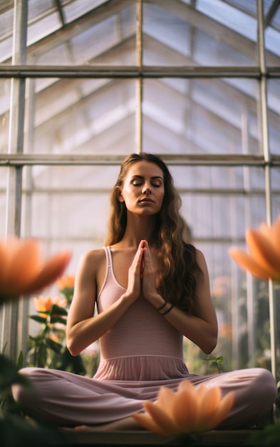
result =
[[[264,150],[264,175],[266,192],[266,221],[271,225],[271,156],[269,151],[267,96],[266,96],[266,57],[264,44],[264,6],[263,1],[258,0],[258,44],[259,44],[259,66],[261,70],[260,80],[260,102],[261,102],[261,145]],[[276,378],[276,307],[274,286],[269,280],[269,316],[270,316],[270,340],[271,340],[271,372]]]

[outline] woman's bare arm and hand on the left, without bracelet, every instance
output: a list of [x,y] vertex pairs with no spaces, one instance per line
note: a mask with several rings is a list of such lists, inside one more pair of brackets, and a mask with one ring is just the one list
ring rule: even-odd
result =
[[73,356],[78,356],[108,331],[140,296],[140,266],[142,255],[138,250],[130,267],[128,290],[109,308],[93,316],[97,294],[98,268],[105,252],[88,251],[81,256],[75,278],[74,296],[68,312],[66,343]]

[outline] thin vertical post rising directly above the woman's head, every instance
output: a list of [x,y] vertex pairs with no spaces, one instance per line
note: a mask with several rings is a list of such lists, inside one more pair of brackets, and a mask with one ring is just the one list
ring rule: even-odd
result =
[[142,0],[138,0],[137,4],[137,29],[136,29],[136,51],[137,51],[137,66],[140,76],[136,81],[136,122],[135,122],[135,138],[136,151],[142,152],[142,94],[143,94],[143,79],[142,79],[142,21],[143,21],[143,5]]

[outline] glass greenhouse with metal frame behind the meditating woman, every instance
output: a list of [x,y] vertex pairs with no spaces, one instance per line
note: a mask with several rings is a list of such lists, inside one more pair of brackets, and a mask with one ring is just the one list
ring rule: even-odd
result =
[[[67,276],[103,246],[125,156],[160,156],[219,323],[208,361],[185,339],[187,367],[280,380],[279,286],[229,255],[280,212],[279,0],[1,0],[0,130],[1,238],[70,250]],[[33,298],[0,308],[11,358],[40,331]]]

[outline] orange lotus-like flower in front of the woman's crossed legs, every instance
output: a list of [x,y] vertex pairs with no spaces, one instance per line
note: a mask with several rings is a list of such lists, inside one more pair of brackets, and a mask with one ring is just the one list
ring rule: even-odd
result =
[[131,416],[142,426],[161,436],[180,436],[214,429],[229,413],[234,403],[234,392],[224,398],[219,386],[195,387],[182,381],[177,391],[162,386],[157,401],[145,401],[146,413]]

